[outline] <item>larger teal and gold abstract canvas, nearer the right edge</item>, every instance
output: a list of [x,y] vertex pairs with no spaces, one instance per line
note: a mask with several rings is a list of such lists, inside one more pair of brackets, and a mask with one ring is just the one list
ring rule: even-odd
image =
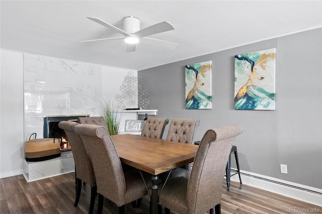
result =
[[275,48],[235,56],[236,110],[275,110]]

